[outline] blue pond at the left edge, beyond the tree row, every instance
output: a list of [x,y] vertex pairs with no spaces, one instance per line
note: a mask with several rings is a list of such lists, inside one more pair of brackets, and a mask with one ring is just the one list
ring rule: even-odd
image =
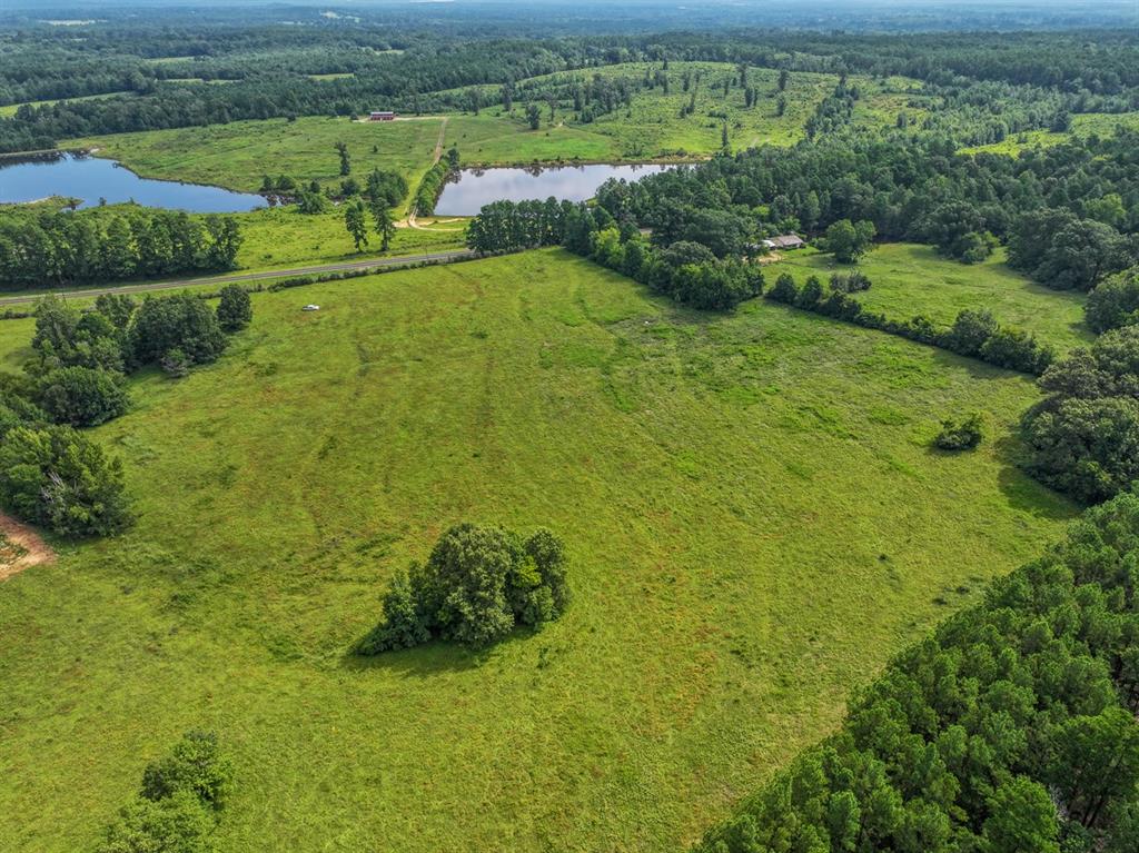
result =
[[93,207],[101,198],[107,204],[136,202],[145,207],[190,213],[239,213],[268,204],[252,192],[139,178],[113,159],[83,154],[0,158],[0,203],[35,202],[50,196],[82,199],[80,207]]

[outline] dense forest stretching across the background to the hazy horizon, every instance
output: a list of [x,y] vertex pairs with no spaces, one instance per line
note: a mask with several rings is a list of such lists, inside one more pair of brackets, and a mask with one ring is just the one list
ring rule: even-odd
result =
[[[510,89],[536,75],[638,60],[903,74],[923,81],[925,92],[942,104],[923,130],[961,143],[1049,128],[1071,114],[1139,108],[1139,48],[1125,35],[1096,34],[1095,61],[1089,63],[1089,35],[1080,32],[904,39],[772,31],[522,39],[478,25],[465,32],[466,38],[458,38],[445,27],[440,32],[421,25],[393,31],[120,23],[92,27],[76,43],[57,30],[17,31],[7,43],[0,39],[7,59],[0,68],[0,105],[30,106],[0,118],[0,151],[50,148],[76,136],[351,115],[379,101],[408,112],[467,108],[469,95],[454,90],[477,84]],[[226,85],[195,88],[182,82],[187,80]],[[550,95],[542,88],[516,91],[518,100],[538,102]],[[109,97],[35,105],[93,95]],[[558,97],[572,102],[573,92]],[[1001,107],[992,110],[995,102]]]

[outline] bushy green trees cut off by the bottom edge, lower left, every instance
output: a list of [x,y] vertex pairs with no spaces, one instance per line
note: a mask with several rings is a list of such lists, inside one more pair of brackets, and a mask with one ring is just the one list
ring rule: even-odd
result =
[[169,755],[147,765],[139,793],[104,830],[96,853],[207,853],[232,780],[218,736],[187,732]]

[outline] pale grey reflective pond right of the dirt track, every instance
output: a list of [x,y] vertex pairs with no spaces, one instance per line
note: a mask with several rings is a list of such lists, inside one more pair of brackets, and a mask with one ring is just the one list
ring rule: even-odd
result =
[[474,216],[491,202],[526,202],[554,196],[559,202],[584,202],[592,198],[609,178],[636,181],[647,174],[673,169],[659,163],[588,166],[556,166],[551,169],[464,169],[459,178],[443,187],[443,195],[435,205],[441,216]]

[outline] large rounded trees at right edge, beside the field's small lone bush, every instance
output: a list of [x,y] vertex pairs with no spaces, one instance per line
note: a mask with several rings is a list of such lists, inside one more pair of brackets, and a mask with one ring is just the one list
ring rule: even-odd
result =
[[1093,503],[1139,479],[1139,326],[1101,335],[1040,377],[1048,396],[1021,424],[1027,470]]

